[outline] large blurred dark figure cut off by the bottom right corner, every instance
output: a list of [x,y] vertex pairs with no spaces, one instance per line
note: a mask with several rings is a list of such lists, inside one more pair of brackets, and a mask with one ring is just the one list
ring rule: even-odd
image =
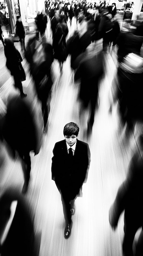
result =
[[133,254],[134,236],[139,228],[143,229],[143,127],[136,139],[136,151],[130,160],[125,181],[118,189],[114,203],[109,210],[109,222],[116,229],[121,213],[124,211],[123,256],[143,255],[143,234],[136,244]]

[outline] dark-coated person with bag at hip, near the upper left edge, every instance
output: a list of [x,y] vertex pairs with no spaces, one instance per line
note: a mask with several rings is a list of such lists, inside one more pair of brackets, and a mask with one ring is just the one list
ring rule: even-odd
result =
[[6,38],[4,43],[4,54],[7,58],[6,66],[14,78],[14,86],[20,90],[21,97],[26,97],[27,94],[24,94],[22,88],[22,81],[26,80],[25,72],[21,64],[22,56],[20,55],[20,52],[18,52],[18,50],[15,48],[11,39]]

